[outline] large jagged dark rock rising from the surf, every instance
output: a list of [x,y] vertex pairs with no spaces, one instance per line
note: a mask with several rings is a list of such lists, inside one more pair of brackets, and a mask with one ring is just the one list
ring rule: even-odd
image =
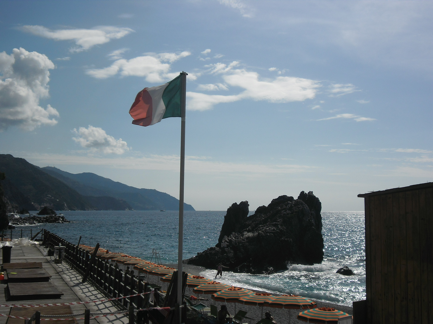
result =
[[280,196],[248,216],[248,201],[233,203],[224,217],[218,244],[186,260],[215,269],[218,263],[235,272],[274,273],[287,264],[323,260],[320,200],[310,191]]

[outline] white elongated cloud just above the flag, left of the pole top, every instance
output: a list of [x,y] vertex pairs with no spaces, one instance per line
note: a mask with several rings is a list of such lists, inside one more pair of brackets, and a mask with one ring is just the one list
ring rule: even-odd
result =
[[[173,75],[169,73],[170,64],[188,55],[191,55],[191,52],[184,51],[180,54],[148,53],[147,55],[134,57],[130,60],[116,60],[109,67],[89,69],[86,73],[97,79],[107,79],[120,73],[121,76],[143,76],[146,81],[152,83],[163,82],[170,79]],[[178,75],[178,73],[175,74]],[[190,76],[189,79],[194,79],[194,76]]]

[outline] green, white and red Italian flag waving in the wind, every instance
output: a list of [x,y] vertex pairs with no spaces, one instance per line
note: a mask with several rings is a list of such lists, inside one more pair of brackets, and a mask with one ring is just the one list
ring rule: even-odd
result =
[[162,86],[142,89],[129,109],[132,124],[149,126],[164,118],[181,117],[181,94],[181,75]]

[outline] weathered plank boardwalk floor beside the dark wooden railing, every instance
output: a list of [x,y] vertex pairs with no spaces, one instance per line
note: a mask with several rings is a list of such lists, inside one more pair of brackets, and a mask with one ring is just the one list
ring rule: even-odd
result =
[[[39,305],[39,304],[50,304],[50,303],[71,303],[71,302],[87,302],[96,301],[101,299],[107,299],[107,296],[97,290],[90,283],[81,283],[81,275],[65,262],[61,264],[54,263],[54,257],[44,257],[45,249],[39,246],[28,246],[28,247],[14,247],[11,250],[11,262],[42,262],[42,267],[52,277],[51,282],[57,287],[58,290],[64,293],[60,299],[38,299],[38,300],[21,300],[21,301],[7,301],[6,302],[6,291],[0,294],[1,305]],[[1,260],[1,253],[0,253]],[[2,261],[3,263],[3,261]],[[6,285],[1,285],[3,289],[6,289]],[[95,313],[112,313],[123,311],[119,306],[113,302],[97,302],[80,305],[71,305],[73,314],[83,314],[86,308],[90,309],[90,317],[94,316]],[[42,312],[42,308],[33,308]],[[9,314],[9,307],[0,307],[0,314]],[[83,315],[77,316],[78,318],[84,317]],[[6,324],[7,317],[0,316],[0,324]],[[24,321],[24,320],[23,320]],[[47,322],[47,324],[49,321]],[[78,323],[84,323],[84,320],[78,320]],[[90,319],[90,324],[127,324],[127,314],[118,314],[108,317],[100,317],[96,319]]]

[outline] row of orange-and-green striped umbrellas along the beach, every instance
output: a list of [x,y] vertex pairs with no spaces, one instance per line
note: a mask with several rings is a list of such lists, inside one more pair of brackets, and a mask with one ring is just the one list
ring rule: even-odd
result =
[[[80,247],[88,251],[94,250],[94,247],[86,245],[80,245]],[[102,248],[97,251],[97,257],[104,260],[112,260],[120,264],[129,264],[133,266],[135,270],[147,273],[148,275],[161,276],[162,278],[160,279],[162,282],[170,282],[173,272],[177,271],[175,268],[165,267],[123,253],[108,252]],[[203,276],[193,276],[189,273],[187,286],[194,288],[194,293],[212,295],[212,299],[217,302],[233,302],[262,307],[262,313],[264,306],[288,309],[289,323],[291,322],[291,309],[300,309],[301,312],[298,314],[297,318],[309,323],[338,323],[338,318],[349,316],[349,314],[334,308],[317,308],[315,302],[305,297],[287,294],[275,296],[266,292],[253,292],[249,289],[227,285],[207,279]]]

